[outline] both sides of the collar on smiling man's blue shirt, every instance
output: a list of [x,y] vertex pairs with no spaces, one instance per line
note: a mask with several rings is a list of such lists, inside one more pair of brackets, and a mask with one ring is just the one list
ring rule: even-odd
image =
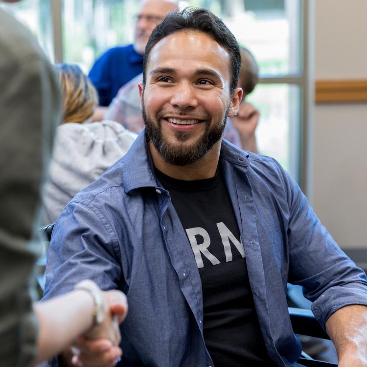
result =
[[[221,159],[246,168],[250,165],[249,154],[227,140],[222,141]],[[159,186],[145,138],[145,128],[122,159],[122,180],[126,193],[140,187]]]

